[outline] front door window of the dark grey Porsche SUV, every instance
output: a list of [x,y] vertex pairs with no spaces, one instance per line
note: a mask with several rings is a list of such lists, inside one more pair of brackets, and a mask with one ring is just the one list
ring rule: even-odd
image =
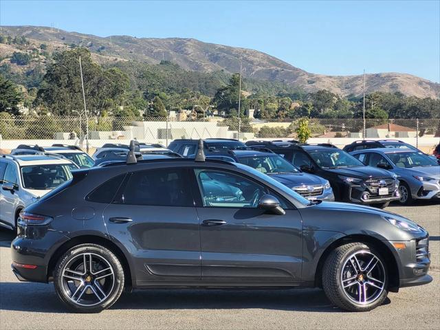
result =
[[195,170],[203,206],[257,208],[265,187],[254,181],[220,170]]

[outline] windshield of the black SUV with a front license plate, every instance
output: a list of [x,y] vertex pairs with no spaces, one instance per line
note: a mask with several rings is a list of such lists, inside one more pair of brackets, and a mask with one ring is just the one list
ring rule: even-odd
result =
[[320,168],[342,168],[365,166],[349,153],[339,149],[311,151],[309,155]]

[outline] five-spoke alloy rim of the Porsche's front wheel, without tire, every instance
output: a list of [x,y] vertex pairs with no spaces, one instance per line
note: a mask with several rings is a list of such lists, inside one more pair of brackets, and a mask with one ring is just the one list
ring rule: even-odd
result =
[[384,291],[385,274],[384,265],[375,254],[368,250],[355,252],[342,267],[344,294],[358,305],[374,303]]

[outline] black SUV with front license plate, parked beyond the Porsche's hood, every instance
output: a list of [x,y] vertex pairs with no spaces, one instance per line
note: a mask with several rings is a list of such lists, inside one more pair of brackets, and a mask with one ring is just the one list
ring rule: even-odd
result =
[[385,208],[399,200],[399,181],[388,170],[365,166],[332,144],[250,141],[283,155],[294,166],[330,181],[336,201],[371,204]]

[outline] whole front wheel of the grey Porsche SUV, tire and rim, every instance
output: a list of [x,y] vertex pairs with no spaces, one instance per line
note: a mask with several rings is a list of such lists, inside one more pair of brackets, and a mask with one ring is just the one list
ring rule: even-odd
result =
[[341,245],[325,261],[322,286],[334,305],[347,311],[370,311],[382,305],[388,294],[386,264],[369,245]]

